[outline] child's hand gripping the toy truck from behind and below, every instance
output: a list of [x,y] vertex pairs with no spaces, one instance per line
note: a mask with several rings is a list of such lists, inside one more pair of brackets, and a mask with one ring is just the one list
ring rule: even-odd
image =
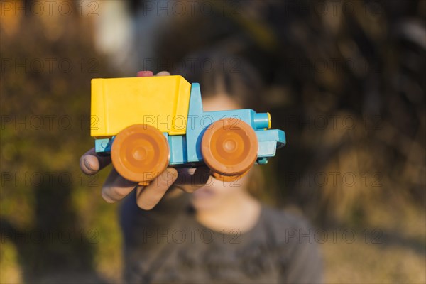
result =
[[[168,76],[167,71],[162,71],[156,76]],[[152,72],[138,72],[139,77],[152,76]],[[97,155],[94,148],[87,151],[80,158],[80,168],[86,175],[94,175],[111,163],[111,157]],[[194,192],[206,184],[209,179],[209,169],[200,167],[191,173],[187,169],[167,168],[158,175],[151,183],[145,187],[138,185],[138,182],[131,182],[121,177],[113,168],[109,173],[102,187],[102,197],[109,203],[119,201],[126,197],[135,187],[136,202],[142,209],[152,209],[165,195],[170,187],[178,187],[185,192]]]

